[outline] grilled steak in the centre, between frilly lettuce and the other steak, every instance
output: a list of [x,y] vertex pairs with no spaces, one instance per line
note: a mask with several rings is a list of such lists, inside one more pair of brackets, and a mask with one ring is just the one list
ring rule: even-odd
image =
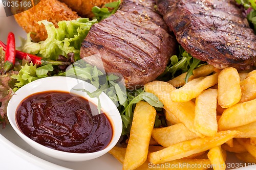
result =
[[156,79],[177,41],[154,6],[153,0],[124,0],[120,10],[91,28],[81,58],[98,67],[101,58],[105,71],[121,74],[130,89]]

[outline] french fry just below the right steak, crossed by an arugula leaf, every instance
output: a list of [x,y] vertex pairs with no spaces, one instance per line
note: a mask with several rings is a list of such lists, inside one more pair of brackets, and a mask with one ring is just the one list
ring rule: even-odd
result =
[[[214,72],[214,66],[207,64],[207,65],[201,65],[200,67],[193,70],[193,75],[189,77],[188,81],[191,81],[193,79],[208,76]],[[168,81],[168,83],[172,84],[174,87],[181,87],[185,84],[185,77],[187,72],[184,72],[180,76],[177,76],[176,78]]]

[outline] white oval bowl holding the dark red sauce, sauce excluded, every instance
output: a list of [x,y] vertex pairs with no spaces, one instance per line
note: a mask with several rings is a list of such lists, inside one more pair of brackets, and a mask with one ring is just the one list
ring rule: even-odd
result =
[[121,132],[122,132],[122,120],[119,111],[117,110],[115,104],[111,101],[111,99],[104,93],[102,93],[99,97],[101,103],[101,110],[104,112],[106,117],[108,117],[112,129],[113,134],[110,140],[110,143],[102,150],[92,153],[70,153],[58,151],[55,149],[51,149],[49,147],[45,147],[42,144],[35,142],[26,136],[22,131],[20,131],[20,127],[17,125],[16,112],[20,107],[20,104],[29,96],[41,93],[41,92],[49,92],[49,91],[62,91],[69,92],[72,95],[77,95],[82,98],[86,98],[92,105],[98,103],[96,98],[90,98],[86,92],[77,91],[75,89],[86,89],[90,92],[96,90],[96,88],[84,81],[69,78],[69,77],[49,77],[36,80],[31,82],[19,90],[12,96],[8,108],[7,115],[9,122],[16,133],[22,137],[31,147],[34,149],[57,159],[65,160],[65,161],[85,161],[97,158],[108,151],[110,151],[115,144],[118,142]]

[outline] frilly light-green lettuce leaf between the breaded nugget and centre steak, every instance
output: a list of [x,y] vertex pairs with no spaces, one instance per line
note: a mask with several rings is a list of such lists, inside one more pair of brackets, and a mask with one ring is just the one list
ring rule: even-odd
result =
[[55,28],[53,23],[47,20],[38,23],[45,25],[48,38],[36,43],[31,42],[28,34],[27,40],[22,40],[22,46],[18,50],[51,60],[56,60],[59,55],[67,57],[68,53],[74,53],[75,60],[78,60],[81,43],[86,38],[92,25],[97,23],[97,20],[90,21],[88,18],[78,18],[76,20],[59,21],[58,28]]

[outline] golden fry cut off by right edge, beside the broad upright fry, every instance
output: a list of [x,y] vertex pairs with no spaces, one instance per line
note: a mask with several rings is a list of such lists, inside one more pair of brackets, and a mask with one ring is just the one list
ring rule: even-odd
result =
[[245,80],[241,81],[242,97],[241,102],[247,102],[256,99],[256,75],[249,76]]

